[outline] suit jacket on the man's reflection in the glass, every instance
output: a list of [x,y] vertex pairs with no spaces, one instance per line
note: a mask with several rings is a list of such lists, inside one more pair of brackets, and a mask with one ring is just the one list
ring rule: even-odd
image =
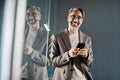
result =
[[[28,30],[25,30],[25,41]],[[27,78],[28,80],[48,80],[46,64],[49,60],[46,58],[46,42],[47,32],[41,27],[33,42],[32,48],[34,50],[32,54],[26,55],[23,53],[22,78]]]

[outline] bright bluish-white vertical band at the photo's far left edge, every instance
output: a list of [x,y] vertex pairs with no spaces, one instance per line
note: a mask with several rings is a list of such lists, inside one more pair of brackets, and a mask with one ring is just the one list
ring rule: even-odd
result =
[[16,0],[5,0],[1,37],[1,78],[10,80]]

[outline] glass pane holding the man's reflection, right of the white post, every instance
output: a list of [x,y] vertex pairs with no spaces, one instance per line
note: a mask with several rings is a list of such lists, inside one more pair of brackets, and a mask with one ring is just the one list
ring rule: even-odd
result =
[[[50,6],[50,0],[27,1],[23,44],[25,50],[23,49],[22,55],[21,80],[24,80],[24,78],[28,80],[49,80],[47,55],[50,31]],[[39,22],[38,24],[37,21]],[[35,29],[36,25],[39,26],[39,29],[32,30],[32,27]],[[27,49],[31,50],[31,48],[32,53],[29,54]]]

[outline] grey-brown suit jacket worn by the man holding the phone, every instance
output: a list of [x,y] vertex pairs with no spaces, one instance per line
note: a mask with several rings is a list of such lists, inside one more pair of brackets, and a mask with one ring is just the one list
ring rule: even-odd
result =
[[[67,29],[51,37],[51,61],[55,67],[53,80],[71,80],[73,64],[86,76],[87,80],[93,80],[89,67],[93,63],[93,52],[91,38],[79,31],[79,42],[84,42],[89,51],[87,58],[77,56],[70,58],[68,51],[71,49]],[[77,80],[76,78],[74,80]]]

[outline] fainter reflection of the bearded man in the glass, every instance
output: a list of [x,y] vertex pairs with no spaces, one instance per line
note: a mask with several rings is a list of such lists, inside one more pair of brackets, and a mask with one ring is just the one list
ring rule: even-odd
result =
[[26,11],[22,80],[48,80],[46,55],[47,31],[40,26],[41,11],[31,6]]

